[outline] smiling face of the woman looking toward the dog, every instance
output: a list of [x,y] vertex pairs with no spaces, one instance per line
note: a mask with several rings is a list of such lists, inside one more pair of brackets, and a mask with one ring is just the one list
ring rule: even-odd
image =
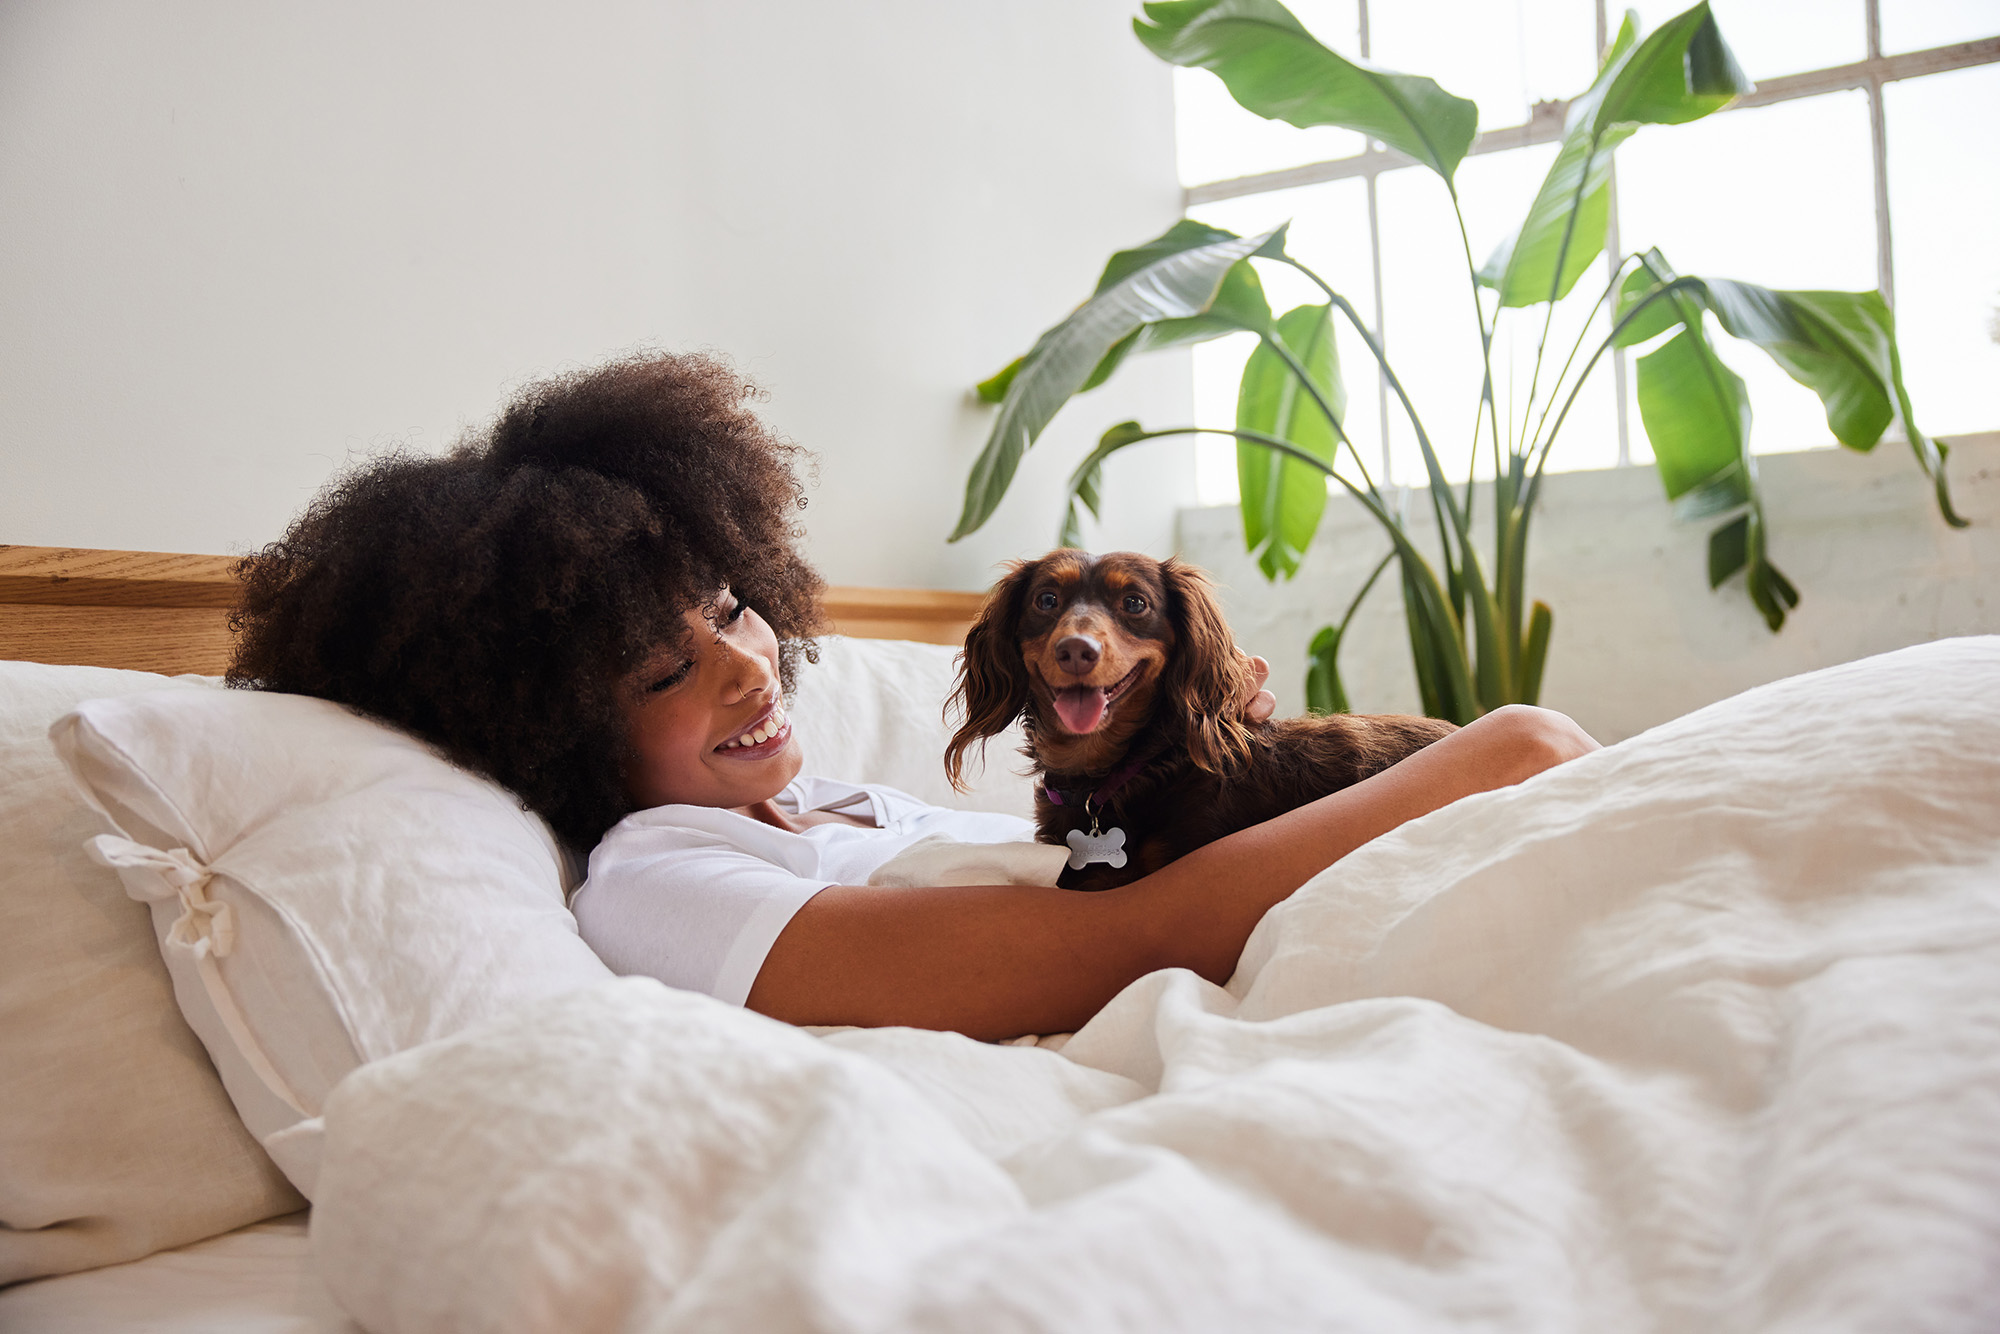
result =
[[638,806],[754,806],[798,776],[802,756],[778,684],[778,636],[722,590],[714,620],[686,614],[688,642],[624,678]]

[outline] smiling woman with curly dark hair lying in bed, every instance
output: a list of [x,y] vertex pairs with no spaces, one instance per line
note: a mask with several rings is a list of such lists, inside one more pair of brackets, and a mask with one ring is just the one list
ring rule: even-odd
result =
[[[794,784],[804,756],[782,704],[814,652],[822,582],[796,550],[798,452],[750,396],[714,360],[640,356],[528,386],[446,458],[340,478],[244,562],[230,682],[406,728],[508,786],[572,848],[618,826],[578,894],[584,938],[614,960],[708,932],[722,958],[708,976],[746,988],[706,988],[728,1000],[796,1024],[978,1038],[1076,1028],[1158,968],[1220,982],[1258,918],[1326,864],[1596,748],[1562,714],[1496,710],[1104,894],[792,874],[780,862],[794,852],[842,842],[836,862],[864,870],[924,822],[960,826]],[[654,858],[646,830],[736,856],[686,874]],[[970,836],[1028,836],[1016,830]]]

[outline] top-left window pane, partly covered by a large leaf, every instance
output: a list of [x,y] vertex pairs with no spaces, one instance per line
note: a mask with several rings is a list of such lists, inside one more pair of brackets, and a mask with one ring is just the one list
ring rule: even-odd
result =
[[[1360,54],[1354,0],[1296,0],[1286,8],[1326,46],[1344,56]],[[1300,130],[1254,116],[1240,108],[1222,80],[1208,70],[1174,70],[1174,128],[1180,144],[1180,180],[1190,186],[1350,158],[1368,146],[1350,130],[1330,126]]]

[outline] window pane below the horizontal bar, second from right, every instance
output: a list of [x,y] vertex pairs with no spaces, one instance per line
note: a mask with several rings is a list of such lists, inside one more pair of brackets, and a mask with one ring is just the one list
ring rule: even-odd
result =
[[[1658,246],[1684,274],[1872,290],[1872,170],[1862,92],[1646,128],[1618,152],[1624,248]],[[1754,450],[1832,444],[1820,400],[1768,356],[1722,336],[1722,358],[1750,386]],[[1640,458],[1636,398],[1632,434]]]

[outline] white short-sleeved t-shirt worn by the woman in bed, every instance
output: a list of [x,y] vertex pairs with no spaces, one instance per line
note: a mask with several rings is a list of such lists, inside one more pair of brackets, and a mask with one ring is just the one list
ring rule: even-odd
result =
[[1034,838],[1020,816],[926,806],[832,778],[794,778],[776,806],[792,816],[834,810],[874,828],[830,822],[790,834],[720,806],[636,810],[590,854],[570,900],[584,944],[612,972],[740,1006],[792,914],[826,886],[868,884],[878,866],[938,834],[964,844]]

